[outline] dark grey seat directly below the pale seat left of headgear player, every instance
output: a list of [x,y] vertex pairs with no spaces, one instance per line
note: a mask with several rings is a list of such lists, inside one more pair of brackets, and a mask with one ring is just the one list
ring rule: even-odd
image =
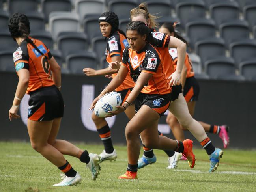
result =
[[86,51],[89,48],[87,37],[81,32],[60,33],[57,40],[58,50],[62,52],[62,61],[69,54]]

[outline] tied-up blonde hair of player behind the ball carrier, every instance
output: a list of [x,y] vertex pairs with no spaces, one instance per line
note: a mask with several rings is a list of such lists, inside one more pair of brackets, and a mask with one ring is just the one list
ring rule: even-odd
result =
[[155,28],[158,26],[156,19],[159,17],[152,15],[148,12],[148,5],[146,3],[141,3],[139,5],[139,7],[133,8],[130,11],[130,15],[131,15],[131,19],[138,15],[142,15],[146,20],[149,19],[149,21],[150,21],[149,27],[151,27],[151,28]]

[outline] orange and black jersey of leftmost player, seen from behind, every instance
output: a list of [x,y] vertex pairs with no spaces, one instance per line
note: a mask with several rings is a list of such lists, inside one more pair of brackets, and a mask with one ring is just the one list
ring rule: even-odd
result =
[[[31,39],[31,37],[30,37]],[[21,45],[13,53],[13,62],[16,71],[20,69],[29,70],[28,89],[29,94],[42,87],[54,85],[51,78],[50,65],[46,56],[50,59],[52,54],[50,50],[43,44],[42,41],[32,39],[37,48],[44,54],[43,56],[30,43],[22,41]]]

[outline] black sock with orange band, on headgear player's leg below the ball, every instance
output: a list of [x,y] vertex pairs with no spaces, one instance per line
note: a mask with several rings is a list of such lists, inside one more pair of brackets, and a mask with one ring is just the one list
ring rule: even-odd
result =
[[111,133],[108,125],[98,129],[98,133],[101,137],[106,153],[112,153],[114,151],[114,147],[112,144]]

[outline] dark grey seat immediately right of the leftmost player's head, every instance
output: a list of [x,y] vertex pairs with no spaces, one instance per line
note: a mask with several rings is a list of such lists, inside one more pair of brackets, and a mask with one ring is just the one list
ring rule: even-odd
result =
[[26,16],[29,19],[30,31],[44,31],[45,30],[45,18],[42,13],[39,12],[29,12],[26,13]]

